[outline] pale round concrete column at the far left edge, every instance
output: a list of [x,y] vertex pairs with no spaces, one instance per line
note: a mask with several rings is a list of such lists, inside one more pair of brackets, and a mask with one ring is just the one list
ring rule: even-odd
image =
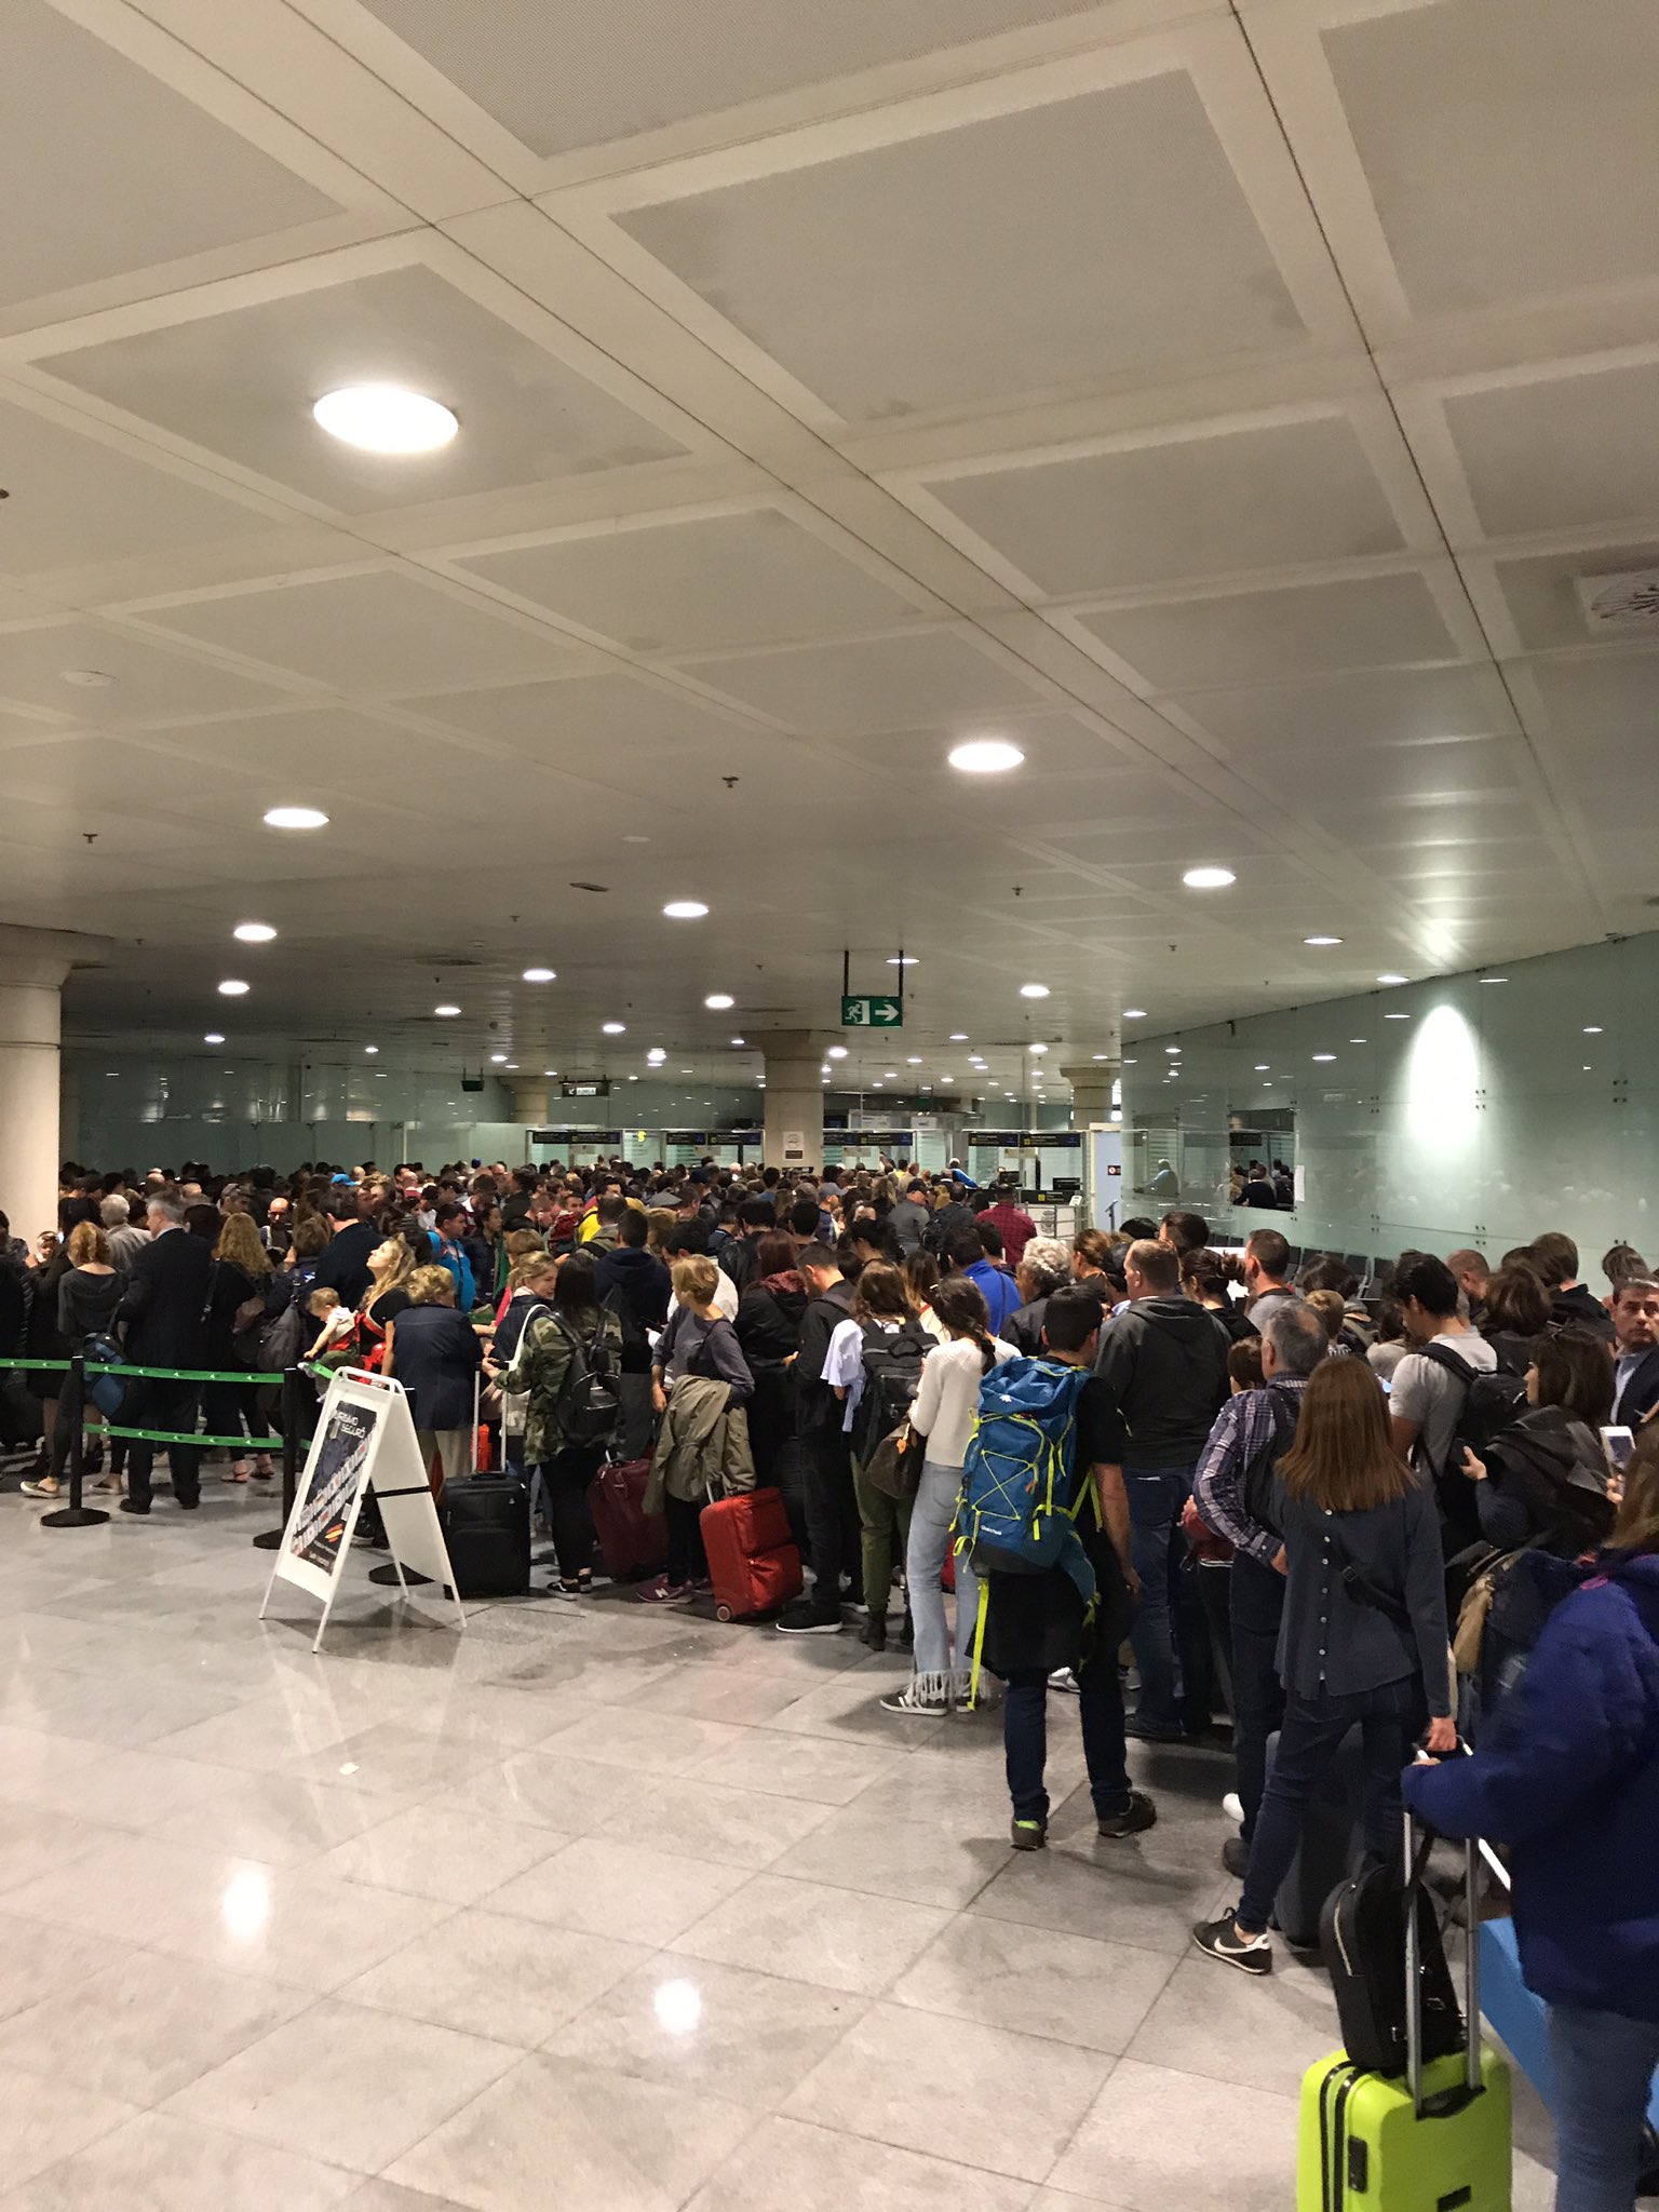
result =
[[0,925],[0,1208],[29,1243],[58,1225],[64,975],[104,953],[102,938]]

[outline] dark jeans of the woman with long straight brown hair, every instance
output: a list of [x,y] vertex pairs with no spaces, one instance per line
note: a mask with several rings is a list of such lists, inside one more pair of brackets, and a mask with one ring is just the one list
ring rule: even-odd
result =
[[1272,1920],[1274,1898],[1303,1840],[1307,1796],[1329,1772],[1356,1721],[1365,1745],[1365,1858],[1369,1865],[1387,1865],[1400,1847],[1400,1774],[1422,1721],[1418,1677],[1407,1674],[1349,1697],[1298,1697],[1287,1690],[1279,1756],[1267,1772],[1239,1898],[1239,1927],[1252,1936],[1261,1936]]

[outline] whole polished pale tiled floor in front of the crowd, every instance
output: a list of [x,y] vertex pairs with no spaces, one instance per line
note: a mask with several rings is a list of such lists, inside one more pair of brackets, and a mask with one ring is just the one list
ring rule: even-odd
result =
[[[1228,1763],[1093,1834],[1053,1701],[894,1719],[852,1635],[316,1608],[268,1500],[0,1495],[0,2212],[1285,2212],[1318,1973],[1197,1958]],[[1522,2101],[1517,2212],[1551,2177]]]

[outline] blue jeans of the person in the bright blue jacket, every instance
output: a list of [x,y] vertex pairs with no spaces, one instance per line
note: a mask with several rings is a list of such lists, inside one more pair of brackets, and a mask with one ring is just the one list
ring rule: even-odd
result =
[[1630,2212],[1659,2026],[1551,2006],[1555,2212]]

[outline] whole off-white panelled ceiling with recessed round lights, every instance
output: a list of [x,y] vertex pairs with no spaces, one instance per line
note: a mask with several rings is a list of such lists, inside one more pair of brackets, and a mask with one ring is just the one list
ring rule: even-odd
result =
[[902,945],[958,1082],[1646,927],[1655,113],[1650,0],[11,0],[0,918],[617,1073]]

